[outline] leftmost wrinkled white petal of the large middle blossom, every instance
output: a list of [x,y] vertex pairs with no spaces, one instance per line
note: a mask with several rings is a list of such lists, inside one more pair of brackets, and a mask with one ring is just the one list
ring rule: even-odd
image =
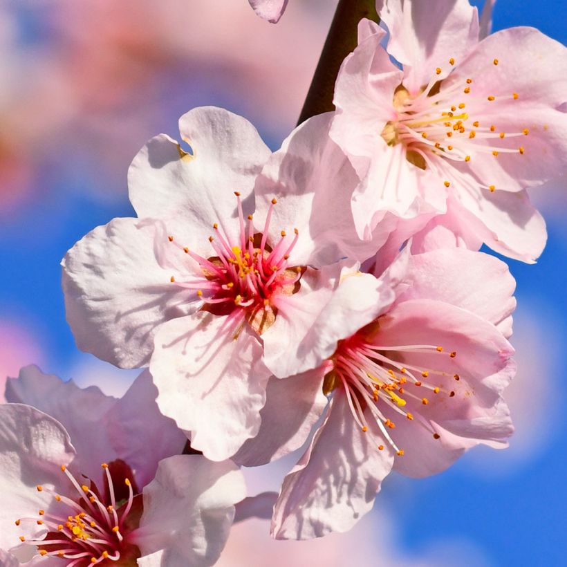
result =
[[162,232],[158,222],[114,219],[67,252],[62,283],[79,348],[123,368],[143,366],[156,327],[191,310],[194,292],[171,284],[179,273]]

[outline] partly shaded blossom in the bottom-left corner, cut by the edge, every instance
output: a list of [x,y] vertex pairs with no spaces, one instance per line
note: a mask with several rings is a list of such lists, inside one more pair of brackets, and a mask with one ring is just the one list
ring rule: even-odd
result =
[[147,372],[121,400],[35,366],[8,381],[8,400],[30,404],[0,406],[0,548],[12,563],[214,564],[243,478],[229,461],[175,455],[185,436],[155,396]]

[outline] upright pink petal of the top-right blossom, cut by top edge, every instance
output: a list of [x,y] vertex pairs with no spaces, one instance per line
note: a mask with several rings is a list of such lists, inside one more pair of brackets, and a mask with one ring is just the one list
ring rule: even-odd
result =
[[478,12],[465,0],[377,0],[376,8],[390,32],[388,53],[404,66],[411,94],[437,67],[446,76],[449,58],[459,61],[478,41]]

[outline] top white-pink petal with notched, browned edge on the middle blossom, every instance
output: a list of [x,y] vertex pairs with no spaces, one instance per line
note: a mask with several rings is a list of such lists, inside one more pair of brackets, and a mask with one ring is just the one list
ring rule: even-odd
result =
[[[257,130],[239,115],[203,106],[179,119],[181,138],[193,154],[168,136],[152,138],[128,172],[130,201],[140,217],[168,219],[168,228],[192,245],[194,225],[210,234],[213,223],[230,238],[238,235],[234,192],[254,212],[252,187],[270,150]],[[238,241],[238,240],[236,240]]]

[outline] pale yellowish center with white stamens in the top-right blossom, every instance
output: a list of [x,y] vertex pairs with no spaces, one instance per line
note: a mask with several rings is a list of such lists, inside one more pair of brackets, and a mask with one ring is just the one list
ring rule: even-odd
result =
[[[449,59],[449,64],[454,66],[455,60]],[[490,64],[498,65],[498,59]],[[475,96],[472,78],[461,77],[454,71],[439,80],[441,73],[441,69],[436,68],[429,83],[416,96],[411,96],[402,85],[398,86],[393,96],[396,119],[387,122],[382,130],[382,138],[388,145],[404,145],[410,163],[438,173],[443,168],[440,159],[470,162],[481,154],[492,154],[494,158],[499,154],[524,154],[523,146],[502,140],[527,136],[527,128],[504,132],[496,124],[482,120],[483,113],[487,114],[487,104],[496,107],[507,104],[517,100],[518,93]],[[491,115],[493,110],[490,108]],[[510,108],[503,109],[502,115],[510,115]],[[445,186],[449,185],[449,181],[445,181]],[[481,187],[490,191],[496,189],[494,185]]]

